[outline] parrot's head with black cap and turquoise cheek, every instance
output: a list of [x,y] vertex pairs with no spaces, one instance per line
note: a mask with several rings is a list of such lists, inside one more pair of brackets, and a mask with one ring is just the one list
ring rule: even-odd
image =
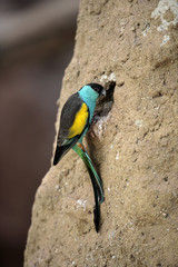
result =
[[92,101],[97,101],[101,95],[106,96],[105,88],[99,83],[88,83],[83,86],[79,92],[82,97],[88,98]]

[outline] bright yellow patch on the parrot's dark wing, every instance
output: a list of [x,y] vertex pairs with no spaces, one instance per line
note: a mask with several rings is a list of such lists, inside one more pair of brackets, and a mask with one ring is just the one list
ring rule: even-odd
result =
[[88,113],[88,107],[83,102],[81,105],[80,110],[76,113],[76,118],[75,118],[73,125],[69,129],[68,138],[72,138],[75,136],[78,136],[78,135],[80,135],[83,131],[85,126],[87,123],[88,115],[89,115]]

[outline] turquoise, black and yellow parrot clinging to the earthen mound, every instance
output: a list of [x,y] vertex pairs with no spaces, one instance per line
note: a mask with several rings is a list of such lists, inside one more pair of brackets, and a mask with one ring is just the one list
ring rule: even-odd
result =
[[82,140],[92,123],[97,100],[101,95],[106,96],[106,90],[101,85],[87,83],[69,97],[61,110],[53,157],[56,166],[72,149],[85,162],[93,188],[93,222],[97,233],[100,228],[100,204],[105,200],[102,180],[97,174]]

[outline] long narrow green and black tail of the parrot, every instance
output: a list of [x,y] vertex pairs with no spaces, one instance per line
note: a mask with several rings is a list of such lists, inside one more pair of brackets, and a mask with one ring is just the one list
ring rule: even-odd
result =
[[[80,147],[79,147],[80,146]],[[105,197],[103,197],[103,190],[102,190],[102,181],[100,177],[98,176],[97,171],[95,170],[91,159],[88,156],[87,151],[85,150],[82,145],[75,145],[72,148],[83,160],[87,170],[89,172],[91,182],[92,182],[92,188],[93,188],[93,194],[95,194],[95,210],[93,210],[93,221],[95,221],[95,227],[96,231],[99,231],[99,226],[100,226],[100,204],[103,202]]]

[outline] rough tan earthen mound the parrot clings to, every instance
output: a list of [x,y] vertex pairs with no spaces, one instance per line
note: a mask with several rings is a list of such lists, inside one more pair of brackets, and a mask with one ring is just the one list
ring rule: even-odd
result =
[[116,81],[110,112],[86,138],[103,181],[101,230],[70,151],[37,191],[26,267],[178,266],[177,23],[176,0],[81,0],[58,120],[81,86]]

